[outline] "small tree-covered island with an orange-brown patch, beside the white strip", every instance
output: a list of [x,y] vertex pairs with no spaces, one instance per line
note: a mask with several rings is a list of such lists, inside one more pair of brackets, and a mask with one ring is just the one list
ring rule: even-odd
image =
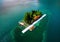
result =
[[[31,25],[34,21],[38,20],[42,15],[42,12],[39,10],[32,10],[31,12],[26,12],[23,21],[19,22],[19,24],[27,27],[28,25]],[[33,29],[34,26],[31,27],[30,31],[32,31]]]

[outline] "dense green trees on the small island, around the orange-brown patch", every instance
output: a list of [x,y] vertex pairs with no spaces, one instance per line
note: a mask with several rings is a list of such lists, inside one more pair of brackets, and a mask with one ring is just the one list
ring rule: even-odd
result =
[[32,10],[31,12],[27,12],[24,16],[24,21],[27,23],[27,24],[32,24],[35,20],[34,20],[34,17],[36,16],[42,16],[42,12],[40,11],[35,11],[35,10]]

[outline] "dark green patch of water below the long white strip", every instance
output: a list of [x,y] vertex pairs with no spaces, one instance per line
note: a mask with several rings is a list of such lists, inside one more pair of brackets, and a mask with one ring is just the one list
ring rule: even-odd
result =
[[[47,30],[47,22],[48,22],[48,18],[47,16],[39,21],[37,23],[37,26],[35,27],[35,29],[31,32],[31,31],[27,31],[25,34],[23,34],[19,25],[16,26],[15,29],[13,29],[13,31],[11,32],[12,35],[12,39],[13,41],[16,42],[42,42],[43,40],[45,40],[45,38],[43,37],[45,34],[43,34],[46,30]],[[43,39],[44,38],[44,39]],[[44,42],[44,41],[43,41]]]

